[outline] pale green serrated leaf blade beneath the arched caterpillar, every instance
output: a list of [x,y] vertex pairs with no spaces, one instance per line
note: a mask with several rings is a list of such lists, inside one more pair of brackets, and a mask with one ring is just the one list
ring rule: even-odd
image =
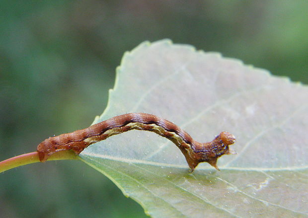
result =
[[152,113],[197,141],[222,131],[237,155],[201,163],[146,131],[91,145],[84,162],[108,176],[153,218],[308,217],[308,89],[216,53],[168,40],[124,55],[108,107],[94,122]]

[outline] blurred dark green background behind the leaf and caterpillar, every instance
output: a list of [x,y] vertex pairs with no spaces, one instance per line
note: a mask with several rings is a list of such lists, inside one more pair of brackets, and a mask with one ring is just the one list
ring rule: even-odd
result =
[[[122,55],[169,38],[308,83],[307,0],[1,0],[0,159],[89,126]],[[279,93],[277,93],[279,94]],[[0,174],[1,218],[142,218],[80,161]]]

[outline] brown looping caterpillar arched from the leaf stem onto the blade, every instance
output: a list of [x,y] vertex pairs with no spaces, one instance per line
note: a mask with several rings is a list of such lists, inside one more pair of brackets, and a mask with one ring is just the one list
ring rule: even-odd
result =
[[208,162],[219,170],[217,159],[224,154],[235,153],[229,148],[235,138],[228,132],[220,133],[211,142],[198,143],[170,121],[144,113],[115,116],[73,133],[48,138],[37,146],[37,151],[40,161],[45,162],[49,155],[57,151],[72,149],[79,154],[88,145],[129,130],[151,131],[172,141],[184,154],[191,171],[200,162]]

